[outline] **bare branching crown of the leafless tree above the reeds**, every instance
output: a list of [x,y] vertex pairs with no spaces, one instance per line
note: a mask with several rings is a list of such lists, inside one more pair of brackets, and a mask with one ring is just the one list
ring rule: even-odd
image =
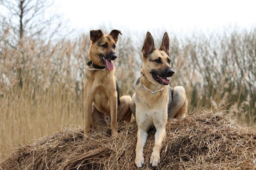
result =
[[61,26],[60,16],[50,11],[53,3],[49,0],[0,0],[0,6],[2,31],[10,28],[8,43],[13,47],[21,39],[50,39]]

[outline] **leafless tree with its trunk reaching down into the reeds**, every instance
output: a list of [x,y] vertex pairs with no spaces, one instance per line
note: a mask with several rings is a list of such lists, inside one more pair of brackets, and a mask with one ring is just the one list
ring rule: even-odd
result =
[[20,88],[23,86],[23,70],[29,61],[26,48],[22,46],[29,39],[42,45],[61,28],[60,16],[50,11],[52,7],[50,0],[0,0],[0,39],[4,42],[0,46],[2,49],[11,47],[22,54],[21,59],[16,56],[17,64],[23,65],[16,70]]

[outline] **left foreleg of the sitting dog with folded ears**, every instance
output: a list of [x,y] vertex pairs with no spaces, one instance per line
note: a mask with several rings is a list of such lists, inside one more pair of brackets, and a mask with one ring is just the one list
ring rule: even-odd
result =
[[83,102],[83,110],[84,110],[84,139],[86,138],[85,135],[90,134],[90,128],[92,123],[92,105],[93,100],[85,97]]

